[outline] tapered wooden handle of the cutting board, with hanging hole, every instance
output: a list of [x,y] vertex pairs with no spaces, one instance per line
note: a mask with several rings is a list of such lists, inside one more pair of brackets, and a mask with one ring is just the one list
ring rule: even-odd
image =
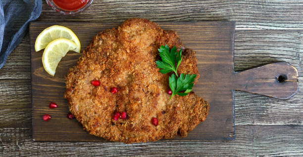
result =
[[298,71],[287,62],[276,62],[234,73],[234,89],[286,100],[298,92]]

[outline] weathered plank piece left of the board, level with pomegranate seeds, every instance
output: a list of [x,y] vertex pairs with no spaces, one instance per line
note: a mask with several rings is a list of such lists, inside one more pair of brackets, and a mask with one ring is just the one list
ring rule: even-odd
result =
[[30,127],[31,112],[31,80],[0,79],[0,128]]

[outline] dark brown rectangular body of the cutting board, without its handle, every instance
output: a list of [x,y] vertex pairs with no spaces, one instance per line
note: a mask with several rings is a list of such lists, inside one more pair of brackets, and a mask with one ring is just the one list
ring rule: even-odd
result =
[[[120,23],[56,23],[72,29],[79,37],[83,49],[97,34],[106,28],[117,27]],[[196,51],[198,69],[203,81],[198,81],[194,91],[205,99],[212,107],[207,120],[199,124],[186,138],[178,140],[232,140],[234,139],[234,107],[231,78],[233,74],[233,41],[235,23],[220,22],[160,22],[162,29],[174,30],[185,47]],[[30,25],[31,46],[38,34],[54,23],[34,22]],[[50,76],[42,65],[42,52],[35,52],[31,47],[32,67],[32,109],[33,138],[36,141],[103,141],[83,130],[76,120],[66,118],[67,101],[63,99],[65,92],[64,75],[76,64],[78,53],[70,53],[62,58],[54,77]],[[222,78],[226,80],[222,81]],[[207,91],[207,92],[205,92]],[[217,93],[220,93],[218,95]],[[53,101],[59,104],[50,109]],[[41,119],[43,114],[52,115],[47,123]],[[62,126],[65,126],[62,128]]]

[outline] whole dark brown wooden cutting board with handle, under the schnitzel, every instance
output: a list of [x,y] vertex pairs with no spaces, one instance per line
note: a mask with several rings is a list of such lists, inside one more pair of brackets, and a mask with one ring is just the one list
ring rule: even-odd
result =
[[[82,50],[99,31],[117,27],[120,23],[45,23],[30,24],[32,113],[34,141],[105,141],[89,135],[75,119],[67,119],[67,101],[64,75],[75,65],[76,52],[69,52],[60,61],[55,76],[43,68],[43,51],[35,52],[38,34],[51,25],[63,25],[75,32]],[[234,72],[235,22],[158,22],[163,29],[177,31],[183,44],[196,51],[200,79],[194,92],[210,104],[208,116],[186,138],[177,141],[234,140],[234,91],[240,90],[266,95],[277,99],[289,99],[298,91],[298,72],[286,62],[267,64],[243,72]],[[49,103],[58,107],[50,109]],[[52,118],[44,121],[42,116]]]

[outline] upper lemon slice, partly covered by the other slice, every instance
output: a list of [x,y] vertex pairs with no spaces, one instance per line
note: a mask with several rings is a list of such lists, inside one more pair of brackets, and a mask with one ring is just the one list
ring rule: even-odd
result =
[[46,48],[51,41],[59,38],[65,38],[75,42],[77,48],[74,51],[80,53],[81,45],[75,33],[69,28],[58,25],[50,26],[38,35],[35,43],[36,52]]

